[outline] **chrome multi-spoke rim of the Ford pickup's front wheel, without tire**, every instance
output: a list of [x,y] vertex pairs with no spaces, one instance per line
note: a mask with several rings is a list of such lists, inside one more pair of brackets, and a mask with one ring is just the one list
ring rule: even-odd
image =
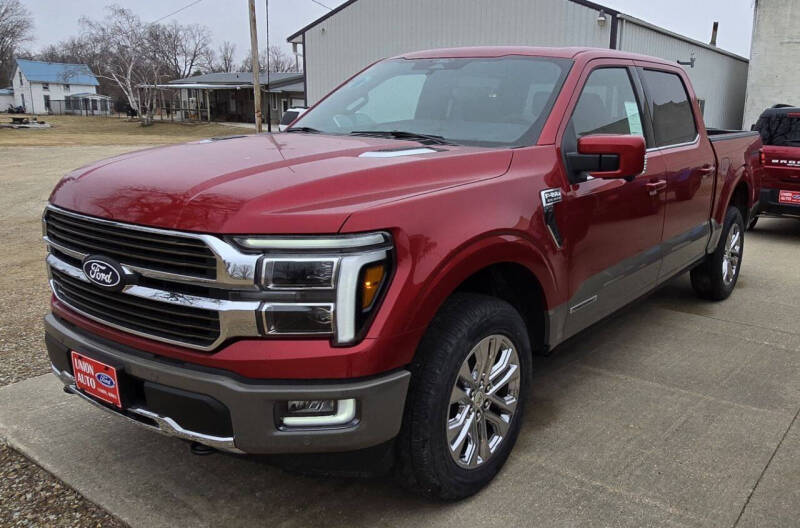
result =
[[445,433],[456,464],[472,469],[492,457],[508,434],[519,391],[516,347],[503,335],[483,338],[461,364],[450,394]]

